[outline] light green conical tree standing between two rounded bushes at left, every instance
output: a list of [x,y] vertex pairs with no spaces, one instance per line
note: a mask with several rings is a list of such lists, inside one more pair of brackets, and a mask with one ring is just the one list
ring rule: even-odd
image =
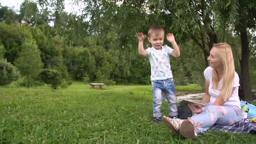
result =
[[40,57],[40,51],[33,39],[25,39],[22,44],[22,51],[15,60],[16,67],[20,70],[21,75],[26,77],[26,86],[32,86],[33,81],[37,78],[43,63]]

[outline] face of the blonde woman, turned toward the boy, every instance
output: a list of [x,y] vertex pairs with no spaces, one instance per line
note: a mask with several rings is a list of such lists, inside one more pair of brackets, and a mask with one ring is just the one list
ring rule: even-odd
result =
[[220,69],[220,68],[223,68],[223,64],[220,60],[219,57],[216,56],[217,54],[217,50],[215,47],[213,47],[211,50],[210,50],[210,56],[208,57],[208,61],[210,63],[210,67],[214,68],[214,69]]

